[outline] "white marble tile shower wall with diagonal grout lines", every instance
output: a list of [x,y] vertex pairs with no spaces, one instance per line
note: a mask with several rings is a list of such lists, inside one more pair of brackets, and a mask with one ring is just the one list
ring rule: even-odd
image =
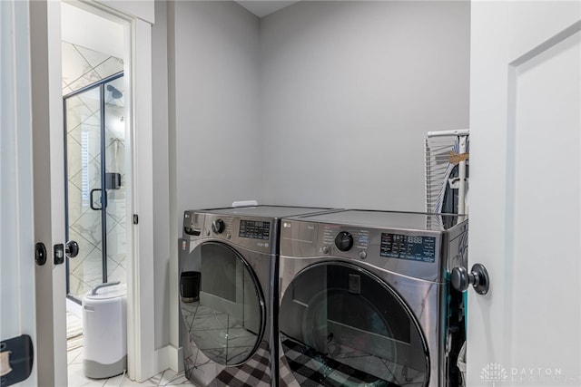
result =
[[[86,47],[63,42],[63,95],[123,71],[123,60]],[[120,90],[123,81],[114,86]],[[126,282],[125,189],[123,130],[112,122],[123,122],[123,98],[106,101],[105,160],[107,172],[122,175],[120,189],[110,190],[107,200],[108,281]],[[81,298],[102,281],[101,213],[91,209],[90,190],[101,185],[99,92],[84,92],[67,99],[67,173],[69,239],[79,243],[80,252],[70,261],[70,292]]]

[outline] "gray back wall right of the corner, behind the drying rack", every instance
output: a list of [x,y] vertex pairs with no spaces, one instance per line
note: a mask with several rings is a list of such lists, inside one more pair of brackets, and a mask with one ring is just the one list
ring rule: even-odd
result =
[[423,137],[468,128],[469,20],[432,1],[262,18],[264,202],[423,210]]

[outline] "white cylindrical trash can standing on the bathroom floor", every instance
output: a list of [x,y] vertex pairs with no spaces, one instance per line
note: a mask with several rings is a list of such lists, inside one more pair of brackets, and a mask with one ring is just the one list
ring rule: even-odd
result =
[[83,371],[109,378],[127,369],[127,286],[97,285],[83,297]]

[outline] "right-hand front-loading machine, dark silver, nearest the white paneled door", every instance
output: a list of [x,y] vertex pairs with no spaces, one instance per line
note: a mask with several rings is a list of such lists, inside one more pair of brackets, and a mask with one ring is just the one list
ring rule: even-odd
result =
[[283,218],[281,385],[458,386],[468,220],[344,210]]

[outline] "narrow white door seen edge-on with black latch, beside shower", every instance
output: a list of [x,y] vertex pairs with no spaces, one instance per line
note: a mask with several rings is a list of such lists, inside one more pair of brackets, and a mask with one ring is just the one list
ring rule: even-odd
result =
[[46,263],[35,267],[38,316],[35,356],[39,359],[39,383],[64,386],[67,364],[61,8],[60,2],[51,1],[32,1],[28,6],[34,160],[31,228],[35,242],[43,242],[48,253]]

